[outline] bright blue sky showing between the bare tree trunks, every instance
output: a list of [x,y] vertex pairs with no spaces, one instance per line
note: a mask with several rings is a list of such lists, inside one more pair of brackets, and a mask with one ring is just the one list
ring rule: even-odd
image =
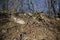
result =
[[[20,1],[20,0],[18,0],[18,1]],[[34,10],[36,10],[36,3],[38,3],[38,10],[39,11],[47,11],[47,1],[46,2],[45,2],[45,0],[32,0],[32,1],[34,3]],[[12,0],[12,3],[8,2],[9,9],[13,6],[13,3],[14,3],[14,0]],[[17,6],[16,6],[17,7],[17,11],[19,11],[19,7],[20,7],[19,5],[20,5],[20,3],[18,2]],[[24,11],[26,11],[26,8],[27,7],[24,4],[24,7],[23,7]],[[1,0],[0,0],[0,9],[1,9]],[[56,9],[58,9],[58,5],[56,5]]]

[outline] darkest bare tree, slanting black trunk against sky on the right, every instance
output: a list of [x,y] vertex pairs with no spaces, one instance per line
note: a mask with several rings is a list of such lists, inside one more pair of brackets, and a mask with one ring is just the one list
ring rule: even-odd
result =
[[48,0],[48,13],[56,17],[55,2],[56,0]]

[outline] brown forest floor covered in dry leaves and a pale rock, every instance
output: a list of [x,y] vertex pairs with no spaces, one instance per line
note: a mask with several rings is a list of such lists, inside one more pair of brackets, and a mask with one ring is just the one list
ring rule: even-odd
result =
[[60,40],[60,18],[30,13],[1,17],[0,40]]

